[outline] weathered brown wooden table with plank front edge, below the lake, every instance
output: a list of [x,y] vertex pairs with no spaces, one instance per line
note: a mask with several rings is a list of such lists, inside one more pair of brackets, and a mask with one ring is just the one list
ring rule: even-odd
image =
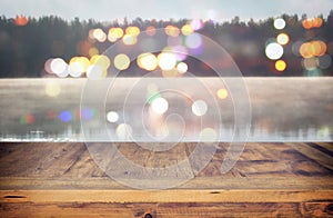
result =
[[[150,167],[181,161],[194,146],[163,153],[118,145],[129,159]],[[221,143],[194,179],[149,191],[110,179],[84,143],[0,143],[0,217],[333,215],[333,143],[248,143],[233,169],[221,175],[226,148]]]

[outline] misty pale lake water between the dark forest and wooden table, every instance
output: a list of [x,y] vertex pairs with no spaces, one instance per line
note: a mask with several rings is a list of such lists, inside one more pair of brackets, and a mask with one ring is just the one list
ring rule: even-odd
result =
[[170,89],[165,79],[119,79],[83,103],[82,79],[2,80],[0,140],[239,141],[250,130],[248,141],[332,141],[333,79],[245,78],[249,96],[238,100],[250,99],[251,126],[234,125],[248,119],[235,118],[226,86],[239,80],[183,78]]

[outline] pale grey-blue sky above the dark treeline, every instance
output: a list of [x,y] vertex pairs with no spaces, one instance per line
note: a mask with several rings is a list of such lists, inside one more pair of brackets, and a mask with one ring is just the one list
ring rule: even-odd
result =
[[59,16],[72,20],[95,19],[110,21],[127,17],[142,19],[266,19],[286,14],[326,17],[333,0],[0,0],[0,14],[13,18]]

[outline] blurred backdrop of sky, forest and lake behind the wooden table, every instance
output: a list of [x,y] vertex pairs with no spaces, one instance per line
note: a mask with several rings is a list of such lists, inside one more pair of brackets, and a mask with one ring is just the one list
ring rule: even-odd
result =
[[[82,122],[93,140],[104,140],[107,129],[112,140],[230,141],[249,129],[235,128],[235,100],[251,102],[243,109],[252,109],[251,141],[332,141],[332,0],[0,4],[2,141],[82,141]],[[160,43],[161,31],[165,47],[143,51]],[[234,62],[214,56],[218,44]],[[210,65],[194,58],[203,53]],[[229,85],[249,93],[231,91],[215,66],[239,68],[244,79],[228,75],[240,79]],[[117,86],[101,92],[115,71]],[[87,88],[90,79],[102,86]],[[165,91],[170,85],[178,95]],[[83,105],[82,90],[90,95]],[[91,103],[101,98],[105,107]]]

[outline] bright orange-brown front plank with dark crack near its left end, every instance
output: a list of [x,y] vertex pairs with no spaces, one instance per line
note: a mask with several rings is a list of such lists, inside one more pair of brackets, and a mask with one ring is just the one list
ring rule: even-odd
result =
[[333,190],[1,190],[0,202],[302,202]]

